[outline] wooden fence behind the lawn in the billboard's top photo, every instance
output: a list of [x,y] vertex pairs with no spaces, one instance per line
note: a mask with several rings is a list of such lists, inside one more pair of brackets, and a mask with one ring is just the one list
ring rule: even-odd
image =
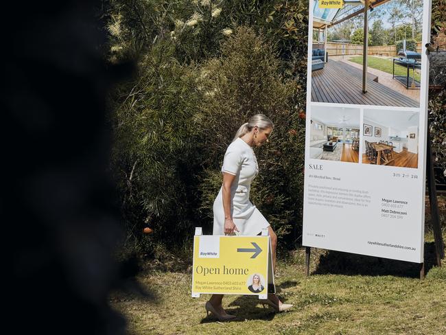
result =
[[[324,43],[313,43],[313,49],[324,49]],[[362,55],[361,44],[328,42],[327,51],[329,56],[344,56],[344,55]],[[416,52],[421,53],[421,42],[416,43]],[[368,47],[368,54],[375,56],[397,56],[396,45],[377,45],[375,47]]]

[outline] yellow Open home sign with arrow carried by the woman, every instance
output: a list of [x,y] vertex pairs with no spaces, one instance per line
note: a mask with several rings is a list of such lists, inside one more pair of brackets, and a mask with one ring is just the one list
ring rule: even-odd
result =
[[268,281],[273,280],[268,236],[194,236],[192,297],[215,293],[266,298]]

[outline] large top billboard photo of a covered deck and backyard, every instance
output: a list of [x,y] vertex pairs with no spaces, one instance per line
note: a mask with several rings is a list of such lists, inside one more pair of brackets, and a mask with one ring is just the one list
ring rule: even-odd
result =
[[314,1],[312,102],[419,107],[423,1],[368,0],[366,15],[364,3],[320,8]]

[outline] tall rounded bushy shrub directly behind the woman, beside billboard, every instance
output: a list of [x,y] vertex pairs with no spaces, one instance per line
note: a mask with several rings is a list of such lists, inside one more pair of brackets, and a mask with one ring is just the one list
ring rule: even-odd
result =
[[253,183],[251,198],[283,237],[300,222],[305,125],[299,117],[301,106],[296,104],[304,91],[294,80],[285,80],[279,68],[277,54],[263,36],[238,28],[222,45],[222,56],[200,69],[198,85],[204,98],[197,126],[203,130],[201,154],[207,167],[200,186],[200,208],[210,219],[221,185],[224,152],[236,130],[251,115],[271,117],[275,124],[272,143],[256,153],[261,173]]

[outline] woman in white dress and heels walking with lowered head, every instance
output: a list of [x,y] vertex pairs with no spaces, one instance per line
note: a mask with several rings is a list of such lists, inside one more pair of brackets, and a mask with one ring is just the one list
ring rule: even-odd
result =
[[[254,115],[243,124],[228,146],[222,166],[223,184],[213,203],[213,235],[259,235],[268,228],[271,240],[272,265],[276,267],[277,235],[270,224],[249,200],[251,182],[259,173],[259,166],[253,151],[254,146],[268,142],[274,124],[263,114]],[[220,321],[235,319],[222,308],[222,294],[213,294],[207,301],[207,313],[213,312]],[[290,309],[292,305],[282,303],[275,294],[268,294],[268,303],[278,312]]]

